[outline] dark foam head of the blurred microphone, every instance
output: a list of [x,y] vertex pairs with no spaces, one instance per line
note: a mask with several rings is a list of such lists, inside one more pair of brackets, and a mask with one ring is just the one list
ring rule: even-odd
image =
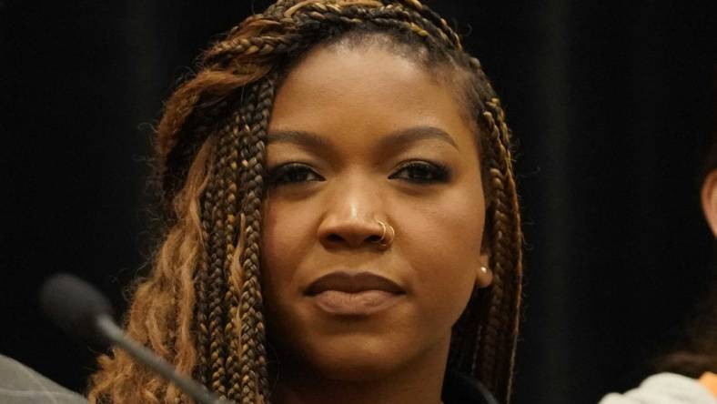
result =
[[96,318],[112,317],[112,306],[92,285],[74,275],[56,274],[45,280],[39,298],[45,315],[67,334],[102,341]]

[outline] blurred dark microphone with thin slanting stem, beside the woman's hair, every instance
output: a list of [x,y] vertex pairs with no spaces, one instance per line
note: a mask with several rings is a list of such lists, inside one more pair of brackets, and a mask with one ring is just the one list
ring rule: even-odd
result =
[[229,404],[210,393],[197,381],[177,372],[165,359],[127,337],[112,318],[112,305],[92,285],[70,274],[57,274],[40,288],[40,306],[45,314],[68,334],[115,344],[136,361],[173,382],[197,404]]

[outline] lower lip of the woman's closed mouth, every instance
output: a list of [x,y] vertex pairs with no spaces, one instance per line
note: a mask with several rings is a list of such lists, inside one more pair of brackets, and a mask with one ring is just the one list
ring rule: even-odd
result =
[[402,296],[384,290],[364,290],[356,293],[327,290],[312,298],[318,308],[329,314],[369,316],[396,305]]

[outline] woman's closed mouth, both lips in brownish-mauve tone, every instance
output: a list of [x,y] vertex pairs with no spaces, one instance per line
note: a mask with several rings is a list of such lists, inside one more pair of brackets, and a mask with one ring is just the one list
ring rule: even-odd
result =
[[369,272],[332,272],[312,282],[304,294],[328,314],[366,317],[398,304],[406,291]]

